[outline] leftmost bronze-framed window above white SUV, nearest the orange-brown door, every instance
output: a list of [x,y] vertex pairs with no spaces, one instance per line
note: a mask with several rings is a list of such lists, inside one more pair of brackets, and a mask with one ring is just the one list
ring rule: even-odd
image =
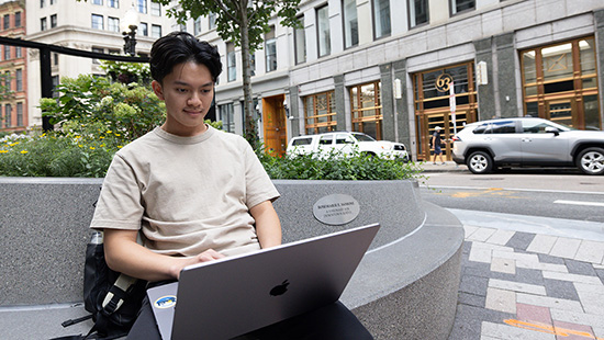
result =
[[307,135],[335,131],[337,121],[334,91],[304,97],[303,102]]

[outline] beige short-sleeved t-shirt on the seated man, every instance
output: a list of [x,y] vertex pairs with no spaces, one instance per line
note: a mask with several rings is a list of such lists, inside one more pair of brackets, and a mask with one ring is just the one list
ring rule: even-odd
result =
[[163,254],[238,254],[260,249],[249,208],[277,197],[243,137],[158,127],[115,154],[90,227],[142,228],[144,246]]

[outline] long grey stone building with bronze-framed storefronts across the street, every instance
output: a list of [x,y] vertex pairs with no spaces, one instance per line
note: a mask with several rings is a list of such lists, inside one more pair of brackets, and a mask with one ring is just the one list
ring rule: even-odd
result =
[[[253,55],[255,114],[276,152],[292,136],[345,129],[426,159],[440,126],[449,157],[456,131],[492,117],[603,127],[601,0],[321,0],[299,15],[302,29],[276,19]],[[211,23],[187,29],[219,46],[217,118],[242,133],[241,52]]]

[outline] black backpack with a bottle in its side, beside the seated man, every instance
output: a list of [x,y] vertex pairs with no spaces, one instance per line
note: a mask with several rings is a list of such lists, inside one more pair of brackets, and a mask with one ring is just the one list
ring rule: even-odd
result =
[[138,316],[147,282],[111,270],[104,260],[103,234],[93,231],[86,248],[83,305],[90,315],[63,322],[68,327],[92,318],[86,336],[52,340],[116,339],[127,335]]

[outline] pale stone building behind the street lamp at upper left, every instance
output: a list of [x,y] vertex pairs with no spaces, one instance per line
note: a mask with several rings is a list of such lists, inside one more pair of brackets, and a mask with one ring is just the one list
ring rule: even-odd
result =
[[[153,42],[174,30],[174,19],[165,9],[150,0],[32,0],[26,1],[26,39],[44,44],[107,54],[124,54],[122,27],[126,12],[134,8],[139,24],[136,32],[136,54],[146,56]],[[53,84],[61,77],[104,75],[98,59],[53,53],[51,56]],[[30,125],[42,126],[40,99],[40,54],[29,49],[29,107]]]

